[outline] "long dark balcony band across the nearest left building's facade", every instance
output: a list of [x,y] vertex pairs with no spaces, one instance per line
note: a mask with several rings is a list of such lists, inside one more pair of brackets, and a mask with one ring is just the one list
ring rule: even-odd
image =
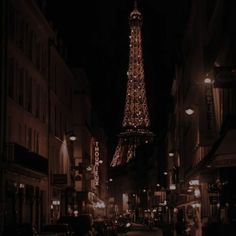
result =
[[8,163],[17,164],[23,168],[41,174],[48,174],[48,160],[35,152],[29,151],[27,148],[19,144],[8,143],[6,145],[5,155]]

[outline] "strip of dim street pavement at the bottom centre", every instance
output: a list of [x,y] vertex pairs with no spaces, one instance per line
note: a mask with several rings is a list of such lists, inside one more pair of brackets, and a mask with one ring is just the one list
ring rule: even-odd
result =
[[163,236],[161,229],[154,227],[149,230],[142,224],[133,224],[132,230],[126,234],[118,234],[118,236]]

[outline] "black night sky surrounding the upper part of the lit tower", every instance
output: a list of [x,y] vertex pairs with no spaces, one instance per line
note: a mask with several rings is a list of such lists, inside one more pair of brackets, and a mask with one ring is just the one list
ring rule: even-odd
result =
[[[49,18],[68,48],[69,64],[85,68],[93,107],[111,139],[121,131],[133,0],[48,0]],[[180,4],[181,2],[181,4]],[[143,58],[153,132],[162,138],[170,109],[174,64],[188,13],[188,0],[140,0]]]

